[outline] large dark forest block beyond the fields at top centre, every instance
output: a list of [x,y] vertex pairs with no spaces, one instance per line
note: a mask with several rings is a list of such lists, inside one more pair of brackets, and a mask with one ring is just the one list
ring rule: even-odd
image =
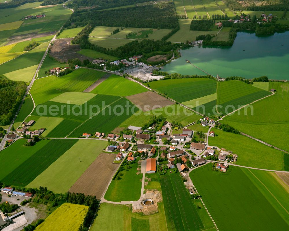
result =
[[76,26],[140,27],[175,29],[178,25],[177,13],[173,1],[141,7],[129,7],[115,10],[76,10],[65,27]]

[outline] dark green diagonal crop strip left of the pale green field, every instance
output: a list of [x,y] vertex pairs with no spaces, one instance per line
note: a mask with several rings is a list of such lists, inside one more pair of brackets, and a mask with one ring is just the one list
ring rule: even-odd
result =
[[[77,139],[51,140],[49,143],[46,143],[39,152],[34,153],[17,168],[15,167],[11,172],[6,173],[7,175],[3,177],[3,181],[15,186],[26,186],[40,173],[45,171],[49,165],[57,160],[65,151],[70,149],[76,142]],[[37,145],[38,144],[35,146]],[[18,150],[18,152],[19,151],[20,150]]]

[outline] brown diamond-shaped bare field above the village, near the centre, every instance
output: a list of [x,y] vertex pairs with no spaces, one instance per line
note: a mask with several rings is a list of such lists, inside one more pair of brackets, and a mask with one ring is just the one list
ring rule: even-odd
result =
[[138,106],[142,111],[149,111],[174,104],[173,101],[151,91],[131,95],[128,96],[127,99],[129,99],[134,105]]

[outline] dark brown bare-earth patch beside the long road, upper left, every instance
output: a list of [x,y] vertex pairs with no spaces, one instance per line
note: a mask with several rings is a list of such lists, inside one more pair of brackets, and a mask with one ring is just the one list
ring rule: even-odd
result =
[[58,60],[59,62],[67,62],[68,59],[78,58],[83,61],[88,59],[92,61],[93,58],[76,53],[80,51],[80,45],[71,45],[72,38],[58,39],[53,42],[49,55]]

